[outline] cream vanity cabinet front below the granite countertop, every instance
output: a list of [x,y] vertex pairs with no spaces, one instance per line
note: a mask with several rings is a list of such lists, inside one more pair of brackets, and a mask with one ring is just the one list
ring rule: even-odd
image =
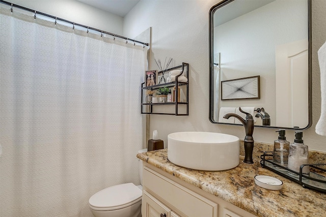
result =
[[173,175],[143,162],[142,215],[145,217],[252,217]]

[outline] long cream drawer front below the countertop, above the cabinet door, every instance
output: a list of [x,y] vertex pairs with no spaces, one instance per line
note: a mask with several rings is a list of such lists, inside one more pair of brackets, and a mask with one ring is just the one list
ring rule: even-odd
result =
[[[186,216],[216,217],[218,205],[198,195],[180,184],[167,179],[155,171],[144,167],[144,188],[167,202]],[[168,205],[168,204],[167,204]]]

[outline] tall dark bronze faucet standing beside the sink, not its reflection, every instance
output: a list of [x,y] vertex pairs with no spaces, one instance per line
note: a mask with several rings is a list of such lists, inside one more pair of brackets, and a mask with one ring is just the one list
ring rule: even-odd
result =
[[244,130],[246,131],[246,137],[244,137],[244,163],[253,164],[253,150],[254,150],[254,118],[248,112],[242,111],[241,107],[239,107],[239,111],[246,114],[246,120],[244,120],[240,115],[234,113],[228,113],[223,117],[229,119],[230,117],[235,117],[239,119],[244,126]]

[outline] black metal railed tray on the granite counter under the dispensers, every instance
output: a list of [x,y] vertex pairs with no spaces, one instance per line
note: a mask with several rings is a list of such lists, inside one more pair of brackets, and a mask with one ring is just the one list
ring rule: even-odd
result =
[[[299,183],[304,188],[313,189],[319,192],[326,192],[326,177],[324,176],[326,174],[326,170],[321,168],[326,164],[303,164],[300,167],[300,172],[295,172],[273,162],[273,151],[265,151],[264,154],[260,156],[260,159],[260,165],[263,168],[271,170],[285,178]],[[311,171],[309,174],[302,173],[302,169],[305,166],[310,166]]]

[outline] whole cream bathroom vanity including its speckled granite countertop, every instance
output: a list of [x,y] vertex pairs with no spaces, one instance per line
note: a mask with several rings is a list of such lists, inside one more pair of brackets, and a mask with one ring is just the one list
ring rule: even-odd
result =
[[[259,143],[255,145],[256,149],[262,147]],[[273,149],[273,145],[270,148]],[[324,154],[311,154],[315,161],[324,159]],[[259,156],[258,152],[255,156]],[[305,189],[262,168],[259,158],[254,158],[254,164],[246,164],[240,155],[239,165],[224,171],[194,170],[175,165],[168,160],[168,149],[138,153],[137,158],[143,161],[143,216],[152,215],[154,207],[159,205],[167,209],[157,210],[158,215],[153,216],[161,216],[161,213],[163,217],[164,214],[181,217],[325,215],[325,193]],[[279,191],[263,189],[255,183],[256,175],[276,177],[283,181],[283,188]]]

